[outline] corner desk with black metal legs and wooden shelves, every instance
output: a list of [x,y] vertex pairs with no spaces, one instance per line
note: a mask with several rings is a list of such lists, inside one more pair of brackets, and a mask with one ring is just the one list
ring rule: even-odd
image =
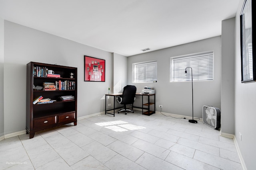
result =
[[[156,113],[156,106],[154,107],[154,111],[150,111],[150,105],[153,105],[153,104],[155,105],[155,103],[156,103],[156,94],[136,93],[135,95],[142,96],[142,107],[136,107],[136,108],[142,109],[142,114],[143,115],[148,115],[149,116],[149,115],[152,115],[152,114]],[[113,96],[113,98],[114,98],[114,108],[113,109],[108,109],[107,110],[107,96]],[[122,96],[122,93],[105,94],[105,115],[106,115],[106,113],[108,113],[107,111],[113,110],[113,113],[108,113],[108,114],[115,116],[115,109],[116,109],[115,108],[115,101],[116,101],[115,99],[116,99],[117,96]],[[148,102],[145,103],[145,104],[143,104],[143,97],[144,96],[148,96]],[[154,96],[154,103],[150,102],[150,98],[149,98],[150,96]],[[144,108],[143,106],[147,106],[147,108]],[[143,112],[143,109],[146,109],[148,111]]]

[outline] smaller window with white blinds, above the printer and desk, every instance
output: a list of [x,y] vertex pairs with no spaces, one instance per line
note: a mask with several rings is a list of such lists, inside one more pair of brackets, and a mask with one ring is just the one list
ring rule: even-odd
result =
[[132,64],[132,82],[154,82],[157,81],[157,62]]

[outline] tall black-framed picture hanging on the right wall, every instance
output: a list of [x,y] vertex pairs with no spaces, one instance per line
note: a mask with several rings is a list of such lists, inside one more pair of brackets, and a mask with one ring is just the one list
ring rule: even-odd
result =
[[[245,0],[240,14],[241,73],[242,83],[256,81],[255,1]],[[252,10],[254,9],[254,11]]]

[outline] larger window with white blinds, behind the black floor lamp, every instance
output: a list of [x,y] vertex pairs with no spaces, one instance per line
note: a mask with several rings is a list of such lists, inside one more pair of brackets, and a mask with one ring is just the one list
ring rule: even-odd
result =
[[213,52],[204,52],[170,58],[170,82],[191,81],[192,68],[193,81],[213,80]]

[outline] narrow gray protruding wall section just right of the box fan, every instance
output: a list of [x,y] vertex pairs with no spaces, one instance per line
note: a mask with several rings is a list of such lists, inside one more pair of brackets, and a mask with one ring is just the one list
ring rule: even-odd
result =
[[222,21],[221,132],[234,134],[235,18]]

